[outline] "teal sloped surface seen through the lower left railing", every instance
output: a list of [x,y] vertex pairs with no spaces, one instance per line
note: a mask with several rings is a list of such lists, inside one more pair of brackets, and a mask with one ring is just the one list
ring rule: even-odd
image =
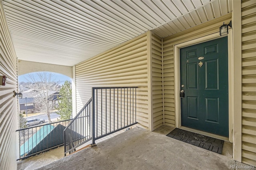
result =
[[52,125],[44,125],[32,137],[30,137],[24,144],[20,146],[20,156],[25,156],[36,147],[44,138],[54,129]]

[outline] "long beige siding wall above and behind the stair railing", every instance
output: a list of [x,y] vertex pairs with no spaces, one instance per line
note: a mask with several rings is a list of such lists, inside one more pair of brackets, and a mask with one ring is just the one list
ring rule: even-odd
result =
[[[75,66],[77,112],[92,97],[92,87],[138,86],[138,126],[148,129],[148,51],[147,34]],[[108,108],[107,108],[108,109]]]

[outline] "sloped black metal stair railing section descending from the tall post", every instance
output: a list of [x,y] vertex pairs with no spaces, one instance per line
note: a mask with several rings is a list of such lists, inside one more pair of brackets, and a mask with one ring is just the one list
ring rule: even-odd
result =
[[84,105],[81,111],[74,117],[64,129],[64,154],[76,151],[76,148],[89,140],[91,137],[91,113],[92,98]]

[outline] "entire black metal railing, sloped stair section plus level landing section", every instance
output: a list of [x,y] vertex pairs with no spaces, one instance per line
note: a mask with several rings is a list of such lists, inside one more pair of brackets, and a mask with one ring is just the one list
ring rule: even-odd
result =
[[92,98],[64,129],[64,154],[135,125],[138,87],[93,87]]

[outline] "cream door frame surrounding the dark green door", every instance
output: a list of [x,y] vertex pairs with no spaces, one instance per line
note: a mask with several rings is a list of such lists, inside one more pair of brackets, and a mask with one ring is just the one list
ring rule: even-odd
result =
[[208,36],[196,38],[183,43],[174,44],[174,104],[175,104],[175,127],[183,128],[184,130],[189,130],[197,133],[201,133],[210,137],[220,138],[229,142],[233,142],[232,130],[233,130],[233,115],[234,115],[234,73],[232,71],[234,67],[233,53],[232,53],[232,29],[229,31],[228,36],[228,138],[219,136],[216,134],[211,134],[208,132],[202,132],[200,130],[194,130],[187,127],[181,126],[181,102],[180,102],[180,48],[188,47],[198,43],[208,42],[217,38],[222,38],[220,33],[210,34]]

